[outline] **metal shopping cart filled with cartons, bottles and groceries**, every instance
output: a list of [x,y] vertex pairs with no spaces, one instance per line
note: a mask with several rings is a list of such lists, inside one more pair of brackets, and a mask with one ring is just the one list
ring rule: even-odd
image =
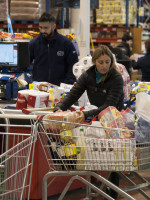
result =
[[[138,170],[150,168],[150,142],[137,145],[135,138],[130,138],[134,131],[55,120],[43,120],[38,124],[38,131],[49,166],[49,172],[43,178],[43,200],[47,199],[48,187],[60,176],[71,178],[59,200],[64,198],[74,180],[86,185],[86,199],[101,195],[112,200],[105,192],[104,186],[126,199],[134,199],[127,193],[132,190],[138,190],[146,199],[150,199],[143,190],[150,187],[150,183],[137,173]],[[113,135],[120,134],[122,139],[105,139],[108,132]],[[108,172],[105,178],[99,173],[103,171]],[[117,172],[132,186],[123,189],[117,187],[109,181],[111,172]],[[142,183],[134,183],[126,176],[126,172],[134,173]],[[101,182],[99,187],[91,181],[92,177]],[[96,193],[93,194],[92,191]]]

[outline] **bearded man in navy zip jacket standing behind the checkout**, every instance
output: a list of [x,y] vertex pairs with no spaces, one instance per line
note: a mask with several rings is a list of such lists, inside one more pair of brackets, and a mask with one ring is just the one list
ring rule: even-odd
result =
[[49,13],[40,17],[39,30],[29,43],[33,81],[73,84],[76,79],[72,68],[78,62],[73,43],[57,32],[55,18]]

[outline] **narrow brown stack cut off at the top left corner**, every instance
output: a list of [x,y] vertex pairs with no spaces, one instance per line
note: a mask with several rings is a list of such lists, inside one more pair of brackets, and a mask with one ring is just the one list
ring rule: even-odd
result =
[[6,0],[0,0],[0,21],[7,21],[8,4]]

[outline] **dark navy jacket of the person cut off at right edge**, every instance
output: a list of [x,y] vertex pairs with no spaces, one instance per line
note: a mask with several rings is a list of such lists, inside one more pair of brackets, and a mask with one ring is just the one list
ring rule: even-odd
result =
[[140,69],[142,72],[142,81],[150,82],[150,52],[138,59],[132,61],[133,69]]

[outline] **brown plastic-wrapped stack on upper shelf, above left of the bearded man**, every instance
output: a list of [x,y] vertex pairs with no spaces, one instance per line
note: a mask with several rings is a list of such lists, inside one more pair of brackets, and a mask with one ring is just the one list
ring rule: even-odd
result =
[[10,16],[15,20],[39,19],[39,0],[11,0]]

